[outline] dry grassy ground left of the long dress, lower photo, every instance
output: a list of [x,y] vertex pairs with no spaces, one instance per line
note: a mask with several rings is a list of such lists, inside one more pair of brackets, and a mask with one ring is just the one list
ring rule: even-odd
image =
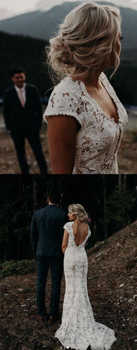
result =
[[[52,349],[53,345],[56,345],[54,327],[37,320],[36,274],[11,276],[0,280],[0,283],[0,349],[38,350],[42,349],[42,346],[43,349]],[[50,290],[48,279],[48,300]]]

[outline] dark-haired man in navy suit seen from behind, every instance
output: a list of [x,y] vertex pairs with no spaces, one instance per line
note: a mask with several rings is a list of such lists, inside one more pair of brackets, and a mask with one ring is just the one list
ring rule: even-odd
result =
[[[68,222],[65,211],[59,209],[60,194],[50,192],[48,206],[34,212],[30,226],[30,241],[37,257],[37,308],[40,321],[58,319],[63,254],[61,250],[63,226]],[[52,275],[50,315],[46,315],[45,287],[48,270]]]

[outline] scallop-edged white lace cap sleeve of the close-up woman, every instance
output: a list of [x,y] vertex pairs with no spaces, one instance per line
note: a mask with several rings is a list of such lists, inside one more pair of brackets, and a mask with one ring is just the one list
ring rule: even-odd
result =
[[43,118],[48,124],[49,116],[57,115],[72,116],[83,126],[80,106],[75,94],[71,91],[71,86],[63,85],[63,81],[54,87],[54,90],[49,98],[48,106],[43,114]]

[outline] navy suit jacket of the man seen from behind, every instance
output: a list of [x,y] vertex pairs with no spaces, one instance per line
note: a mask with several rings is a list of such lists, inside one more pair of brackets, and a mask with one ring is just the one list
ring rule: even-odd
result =
[[35,255],[59,257],[63,226],[68,222],[65,211],[49,204],[46,208],[34,212],[30,226],[30,241]]

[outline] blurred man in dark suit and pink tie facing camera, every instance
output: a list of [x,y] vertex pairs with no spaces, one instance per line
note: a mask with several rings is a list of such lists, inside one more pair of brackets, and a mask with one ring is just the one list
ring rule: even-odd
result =
[[18,156],[22,174],[29,174],[25,155],[27,138],[37,160],[41,174],[47,174],[47,165],[39,136],[42,124],[42,108],[39,91],[32,84],[26,84],[22,68],[14,69],[13,85],[4,92],[4,119],[7,133],[11,135]]

